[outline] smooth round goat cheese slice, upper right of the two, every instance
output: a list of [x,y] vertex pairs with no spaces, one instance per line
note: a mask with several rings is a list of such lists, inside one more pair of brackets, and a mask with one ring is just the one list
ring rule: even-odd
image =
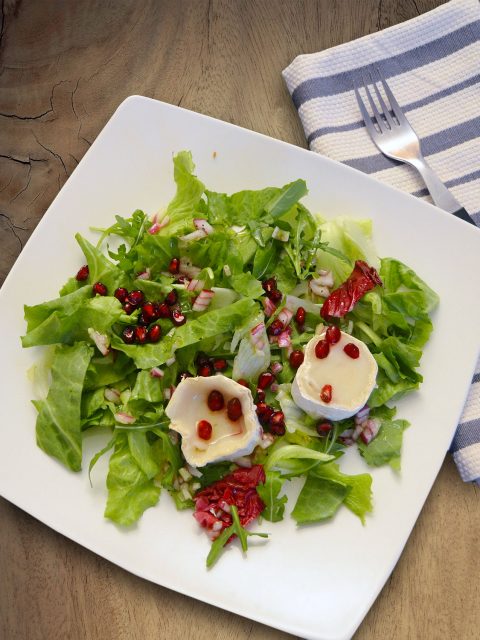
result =
[[[307,344],[303,364],[292,384],[292,397],[315,418],[345,420],[367,402],[375,387],[377,363],[365,343],[343,331],[340,340],[329,345],[328,355],[319,358],[315,348],[322,340],[326,340],[325,332]],[[348,355],[355,349],[347,345],[358,348],[357,357]]]

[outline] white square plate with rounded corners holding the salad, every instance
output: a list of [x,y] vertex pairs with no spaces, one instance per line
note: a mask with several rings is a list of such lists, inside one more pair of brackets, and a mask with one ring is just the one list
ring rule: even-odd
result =
[[[209,541],[190,512],[164,492],[138,526],[103,517],[103,467],[90,488],[85,468],[103,443],[86,440],[74,474],[35,444],[26,371],[37,349],[22,350],[23,304],[56,297],[83,263],[74,233],[108,226],[115,214],[153,213],[174,193],[172,155],[190,149],[208,188],[234,192],[304,178],[306,205],[326,216],[374,221],[382,256],[413,267],[440,295],[435,331],[422,361],[421,390],[398,403],[411,421],[400,475],[373,469],[375,509],[366,526],[347,509],[321,526],[271,525],[267,544],[246,558],[238,548],[205,569]],[[216,152],[216,153],[214,153]],[[341,640],[362,621],[392,571],[438,473],[477,356],[480,231],[452,215],[309,151],[147,98],[114,114],[32,234],[0,292],[0,493],[53,529],[147,580],[305,638]],[[366,471],[355,451],[343,462]],[[292,504],[290,503],[290,509]]]

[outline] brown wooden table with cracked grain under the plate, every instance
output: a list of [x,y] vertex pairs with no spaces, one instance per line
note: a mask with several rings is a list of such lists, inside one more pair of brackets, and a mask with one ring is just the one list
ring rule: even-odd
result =
[[[125,97],[158,98],[305,146],[281,70],[299,53],[357,38],[439,4],[3,0],[1,281]],[[460,481],[447,457],[356,640],[479,637],[477,494]],[[291,637],[130,575],[4,500],[0,519],[5,640]]]

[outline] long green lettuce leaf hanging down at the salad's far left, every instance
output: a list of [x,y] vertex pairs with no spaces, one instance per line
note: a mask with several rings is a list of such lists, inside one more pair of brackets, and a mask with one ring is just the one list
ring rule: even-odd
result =
[[38,446],[72,471],[82,466],[81,399],[92,353],[92,347],[84,342],[57,347],[48,395],[34,402]]

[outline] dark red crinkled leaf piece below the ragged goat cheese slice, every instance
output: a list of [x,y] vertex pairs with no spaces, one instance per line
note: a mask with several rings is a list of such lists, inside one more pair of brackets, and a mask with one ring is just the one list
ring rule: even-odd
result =
[[265,508],[256,489],[263,482],[265,471],[260,464],[248,469],[236,469],[195,495],[195,519],[214,540],[232,524],[229,506],[234,504],[240,523],[245,527],[258,518]]

